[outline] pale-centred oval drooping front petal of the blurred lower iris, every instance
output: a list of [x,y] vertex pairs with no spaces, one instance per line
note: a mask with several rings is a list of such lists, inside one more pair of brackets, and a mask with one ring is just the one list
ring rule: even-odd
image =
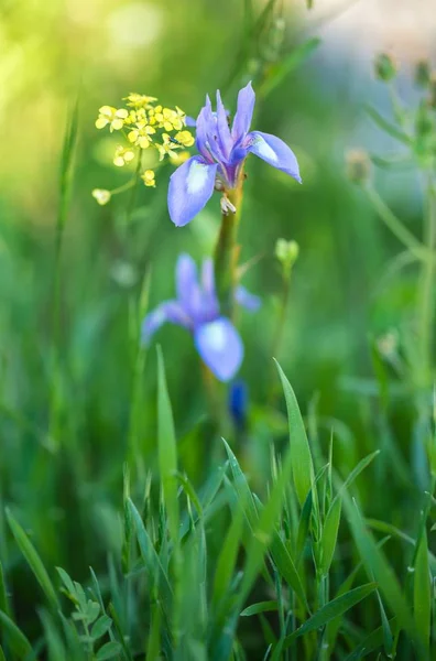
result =
[[243,358],[242,340],[230,319],[219,317],[203,324],[194,333],[195,346],[217,379],[229,381]]

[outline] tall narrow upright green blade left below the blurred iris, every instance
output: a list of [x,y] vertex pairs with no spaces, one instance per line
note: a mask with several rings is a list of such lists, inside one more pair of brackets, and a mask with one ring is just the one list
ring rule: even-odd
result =
[[165,366],[161,347],[157,347],[157,445],[159,467],[168,516],[168,525],[173,542],[178,542],[178,500],[177,500],[177,444],[174,430],[173,411],[166,388]]

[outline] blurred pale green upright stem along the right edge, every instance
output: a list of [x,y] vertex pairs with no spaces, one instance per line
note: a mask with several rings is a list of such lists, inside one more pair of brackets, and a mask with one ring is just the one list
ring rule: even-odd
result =
[[[432,174],[427,178],[427,204],[424,217],[424,241],[428,252],[436,250],[436,189]],[[422,384],[432,384],[433,339],[435,322],[435,260],[423,262],[418,290],[418,333]],[[421,381],[421,379],[419,379]]]

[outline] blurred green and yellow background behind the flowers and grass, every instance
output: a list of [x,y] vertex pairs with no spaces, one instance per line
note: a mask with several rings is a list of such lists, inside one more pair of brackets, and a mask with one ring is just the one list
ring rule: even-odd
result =
[[[414,64],[435,56],[434,2],[315,0],[308,10],[303,0],[288,0],[277,52],[274,35],[244,42],[247,8],[260,12],[266,4],[2,0],[0,6],[0,498],[21,508],[44,556],[63,560],[77,575],[119,543],[115,508],[128,452],[132,337],[138,332],[132,311],[144,274],[151,269],[150,305],[171,296],[176,256],[209,253],[220,220],[214,201],[188,227],[172,225],[170,167],[159,173],[156,189],[140,189],[128,223],[126,196],[105,207],[92,199],[92,188],[113,188],[129,177],[112,165],[116,138],[97,131],[94,122],[100,106],[119,106],[130,91],[156,96],[195,116],[205,94],[221,88],[233,110],[239,87],[250,78],[260,80],[262,67],[308,39],[320,39],[271,93],[259,94],[255,128],[280,136],[295,150],[304,183],[298,186],[254,158],[247,166],[241,261],[259,257],[244,284],[263,301],[255,318],[240,318],[246,343],[241,377],[250,393],[253,438],[247,460],[261,475],[269,441],[283,431],[281,404],[274,411],[264,407],[274,380],[279,237],[301,247],[277,358],[302,409],[316,399],[319,424],[326,438],[335,427],[346,465],[380,444],[374,441],[380,427],[370,339],[407,323],[416,272],[411,268],[390,275],[399,246],[348,180],[345,154],[356,147],[392,150],[363,108],[370,101],[389,112],[389,94],[374,78],[372,62],[377,53],[392,51],[401,65],[399,94],[413,102]],[[67,453],[58,464],[55,440],[47,434],[55,378],[56,217],[62,145],[76,102],[78,142],[62,247],[56,375]],[[418,234],[422,197],[414,172],[381,170],[374,176],[392,208]],[[182,329],[163,328],[159,342],[186,465],[199,481],[201,460],[193,453],[204,457],[210,443],[198,422],[207,405],[200,366]],[[155,389],[151,350],[139,403],[148,467],[154,463]],[[393,413],[404,463],[411,459],[407,405],[400,394]],[[362,488],[370,491],[371,486]],[[374,513],[377,508],[372,503]],[[91,539],[81,532],[90,523]],[[1,544],[6,556],[0,529],[0,551]]]

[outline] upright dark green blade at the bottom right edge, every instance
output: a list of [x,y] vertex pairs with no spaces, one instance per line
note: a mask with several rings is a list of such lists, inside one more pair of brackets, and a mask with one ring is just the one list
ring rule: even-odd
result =
[[413,605],[416,630],[425,650],[429,651],[432,588],[428,566],[427,533],[423,530],[415,561]]

